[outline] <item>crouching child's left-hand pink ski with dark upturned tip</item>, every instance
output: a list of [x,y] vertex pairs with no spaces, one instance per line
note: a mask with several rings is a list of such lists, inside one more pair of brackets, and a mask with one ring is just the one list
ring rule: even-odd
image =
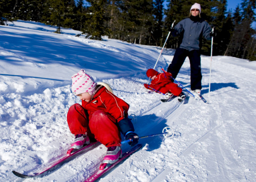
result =
[[56,158],[50,159],[50,162],[47,163],[47,166],[46,166],[46,167],[43,168],[43,166],[44,166],[45,164],[36,167],[36,169],[43,168],[43,169],[41,170],[41,172],[38,172],[38,173],[32,173],[32,174],[31,174],[31,171],[33,171],[34,169],[31,169],[31,170],[29,170],[29,171],[26,171],[26,172],[23,173],[23,174],[22,174],[22,173],[19,173],[19,172],[17,172],[17,171],[12,171],[12,173],[13,173],[14,175],[16,175],[17,177],[20,177],[20,178],[31,178],[31,177],[35,177],[35,176],[38,176],[38,175],[40,175],[40,174],[45,173],[46,171],[49,171],[50,169],[51,169],[51,170],[54,170],[54,169],[57,167],[57,165],[60,165],[60,164],[62,164],[62,163],[64,163],[64,162],[67,162],[68,159],[72,159],[73,157],[78,156],[79,154],[83,154],[84,152],[91,150],[92,147],[97,147],[97,146],[99,146],[100,144],[101,144],[100,142],[93,142],[93,143],[90,143],[89,145],[86,145],[86,146],[82,147],[82,148],[79,149],[79,150],[76,150],[76,151],[73,150],[72,153],[70,153],[70,150],[68,150],[68,153],[67,153],[67,154],[62,154],[62,155],[60,155],[60,156],[58,156],[58,157],[56,157]]

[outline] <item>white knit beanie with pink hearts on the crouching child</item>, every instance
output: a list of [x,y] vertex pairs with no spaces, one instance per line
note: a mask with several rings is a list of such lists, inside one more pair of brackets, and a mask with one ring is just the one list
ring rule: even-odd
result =
[[80,70],[78,73],[74,74],[71,79],[71,90],[74,95],[83,94],[85,92],[93,95],[97,83],[94,82],[93,78],[90,75],[86,74],[83,69]]

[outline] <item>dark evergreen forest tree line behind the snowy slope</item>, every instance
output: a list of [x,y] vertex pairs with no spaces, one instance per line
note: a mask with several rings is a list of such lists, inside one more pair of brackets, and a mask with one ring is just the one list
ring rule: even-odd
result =
[[[175,20],[188,17],[192,4],[201,5],[201,17],[217,31],[213,55],[256,60],[255,0],[243,0],[231,12],[227,0],[1,0],[0,24],[37,21],[81,31],[87,38],[102,36],[129,43],[163,46]],[[79,35],[78,35],[79,36]],[[166,47],[178,47],[180,37],[170,36]],[[211,41],[203,39],[202,54],[210,55]]]

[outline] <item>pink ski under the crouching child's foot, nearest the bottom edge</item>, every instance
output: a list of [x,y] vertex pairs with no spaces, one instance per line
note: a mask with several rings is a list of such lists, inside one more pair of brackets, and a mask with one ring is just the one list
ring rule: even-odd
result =
[[98,169],[98,171],[96,173],[94,173],[93,175],[91,175],[89,178],[87,178],[84,182],[93,182],[96,179],[98,179],[99,177],[101,177],[103,174],[105,174],[106,172],[108,172],[110,169],[112,169],[114,166],[116,166],[119,162],[123,161],[124,159],[126,159],[127,157],[129,157],[131,154],[135,153],[136,151],[138,151],[140,148],[142,147],[141,144],[134,146],[132,149],[128,150],[126,153],[124,153],[122,155],[122,157],[116,161],[115,163],[113,163],[112,165],[106,166],[105,169],[100,170]]

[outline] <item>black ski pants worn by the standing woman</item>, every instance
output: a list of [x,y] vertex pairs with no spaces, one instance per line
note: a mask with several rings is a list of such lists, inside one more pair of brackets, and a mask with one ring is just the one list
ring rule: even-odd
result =
[[167,71],[172,73],[175,79],[180,71],[182,64],[188,56],[190,62],[190,82],[191,90],[202,89],[202,74],[201,74],[201,58],[199,50],[188,51],[186,49],[177,48],[173,56],[172,63],[169,65]]

